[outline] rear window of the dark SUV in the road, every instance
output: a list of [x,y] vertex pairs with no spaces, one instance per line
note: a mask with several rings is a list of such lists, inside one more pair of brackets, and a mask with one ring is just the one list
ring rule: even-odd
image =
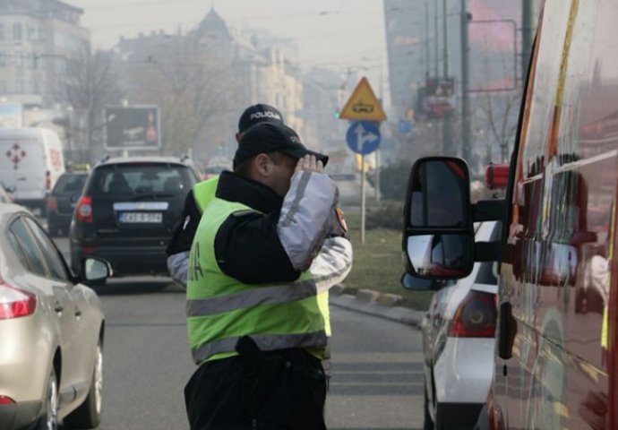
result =
[[189,168],[172,164],[126,164],[97,168],[92,193],[114,195],[186,193],[193,181]]

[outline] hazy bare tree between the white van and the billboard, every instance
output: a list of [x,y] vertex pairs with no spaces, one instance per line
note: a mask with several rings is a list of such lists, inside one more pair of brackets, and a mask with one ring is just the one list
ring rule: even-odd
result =
[[92,158],[95,155],[93,152],[96,152],[95,144],[102,142],[97,136],[102,135],[100,132],[105,125],[103,108],[108,104],[116,104],[122,97],[111,53],[97,50],[91,54],[90,48],[84,47],[68,60],[64,93],[79,124],[73,124],[70,133],[83,136],[78,140],[85,141]]

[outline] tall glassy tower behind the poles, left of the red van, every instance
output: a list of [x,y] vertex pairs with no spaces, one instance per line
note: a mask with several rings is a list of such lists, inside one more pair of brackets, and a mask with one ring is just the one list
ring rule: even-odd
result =
[[[540,2],[526,1],[536,22]],[[399,129],[394,133],[399,150],[410,159],[441,151],[457,155],[462,141],[461,3],[383,0],[383,5],[393,110],[389,120],[401,125],[416,122],[412,133],[399,133],[404,128],[391,125]],[[506,148],[490,133],[490,123],[517,123],[518,109],[511,105],[521,91],[522,2],[468,0],[467,9],[473,157],[479,163],[499,161],[498,152]],[[447,89],[449,97],[438,97],[437,89]],[[442,118],[449,108],[452,126],[447,132]]]

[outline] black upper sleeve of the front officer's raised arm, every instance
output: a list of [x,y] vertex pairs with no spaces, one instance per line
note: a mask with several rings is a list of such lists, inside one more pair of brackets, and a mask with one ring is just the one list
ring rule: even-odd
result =
[[277,234],[279,212],[239,212],[221,225],[215,237],[219,269],[246,284],[291,282],[296,271]]

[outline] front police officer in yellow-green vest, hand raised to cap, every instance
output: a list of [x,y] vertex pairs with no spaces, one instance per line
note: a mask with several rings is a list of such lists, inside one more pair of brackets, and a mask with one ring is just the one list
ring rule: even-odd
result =
[[253,125],[191,248],[185,387],[195,429],[323,429],[326,325],[309,268],[332,228],[328,160],[286,125]]

